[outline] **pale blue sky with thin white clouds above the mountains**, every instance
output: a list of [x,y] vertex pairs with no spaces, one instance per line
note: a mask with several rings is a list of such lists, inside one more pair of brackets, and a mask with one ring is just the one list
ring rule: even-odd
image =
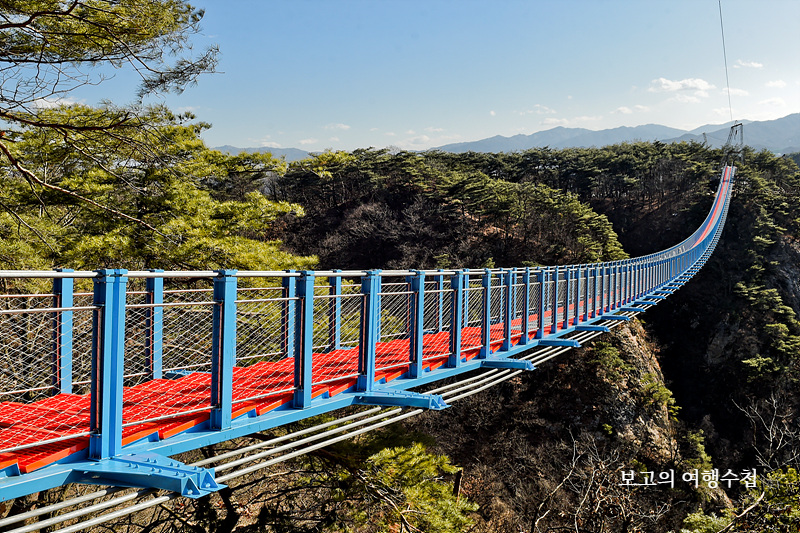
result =
[[[717,0],[195,0],[209,146],[425,149],[730,120]],[[735,119],[800,112],[800,1],[723,0]],[[119,76],[83,97],[132,99]],[[98,94],[98,92],[100,94]]]

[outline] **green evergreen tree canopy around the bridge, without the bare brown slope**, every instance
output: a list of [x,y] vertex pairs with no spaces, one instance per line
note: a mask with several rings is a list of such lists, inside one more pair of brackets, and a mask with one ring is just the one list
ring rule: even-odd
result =
[[[710,205],[722,152],[698,143],[500,154],[363,149],[291,164],[210,150],[200,137],[207,124],[144,104],[213,71],[217,50],[191,49],[201,19],[202,10],[178,0],[0,1],[0,269],[590,263],[670,246]],[[95,67],[103,66],[141,75],[134,103],[70,104],[75,89],[102,83]],[[678,513],[686,531],[800,524],[798,159],[745,150],[716,252],[691,288],[645,317],[672,391],[648,374],[640,393],[675,417],[681,453],[691,456],[681,464],[757,466],[781,482],[731,491],[734,505],[722,514],[724,505],[715,508],[708,495],[681,494],[693,504]],[[22,290],[4,282],[6,291]],[[592,379],[617,390],[631,367],[615,350],[598,345],[584,363],[601,369]],[[563,389],[579,389],[588,377]],[[562,413],[555,416],[562,433],[572,431]],[[604,438],[624,444],[606,429]],[[492,511],[474,514],[452,494],[443,476],[455,468],[423,440],[378,432],[300,459],[292,482],[265,497],[259,527],[457,531],[475,522],[486,530]],[[558,490],[559,481],[542,486]],[[516,493],[536,483],[524,479]],[[554,501],[538,509],[546,515]],[[303,514],[285,502],[311,504]],[[619,500],[598,505],[605,505],[598,527],[622,530]],[[538,524],[533,508],[523,501],[509,523]],[[575,512],[550,516],[577,523]]]

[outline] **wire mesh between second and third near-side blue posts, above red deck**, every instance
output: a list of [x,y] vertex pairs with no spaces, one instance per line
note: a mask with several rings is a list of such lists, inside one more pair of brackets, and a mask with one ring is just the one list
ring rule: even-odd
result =
[[[291,356],[286,331],[297,298],[283,287],[240,287],[236,301],[236,365],[279,361]],[[293,317],[292,317],[293,319]]]

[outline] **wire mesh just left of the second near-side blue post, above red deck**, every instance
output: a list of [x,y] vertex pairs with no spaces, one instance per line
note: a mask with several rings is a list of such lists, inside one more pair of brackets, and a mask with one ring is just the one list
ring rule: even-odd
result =
[[214,305],[211,289],[164,291],[164,372],[207,372],[211,368]]

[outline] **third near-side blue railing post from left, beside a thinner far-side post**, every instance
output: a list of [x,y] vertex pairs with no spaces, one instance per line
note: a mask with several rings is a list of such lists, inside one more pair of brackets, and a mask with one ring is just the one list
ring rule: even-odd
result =
[[294,407],[297,409],[311,404],[315,280],[313,270],[304,270],[300,273],[300,280],[297,283],[298,305],[295,315],[297,333],[294,352]]

